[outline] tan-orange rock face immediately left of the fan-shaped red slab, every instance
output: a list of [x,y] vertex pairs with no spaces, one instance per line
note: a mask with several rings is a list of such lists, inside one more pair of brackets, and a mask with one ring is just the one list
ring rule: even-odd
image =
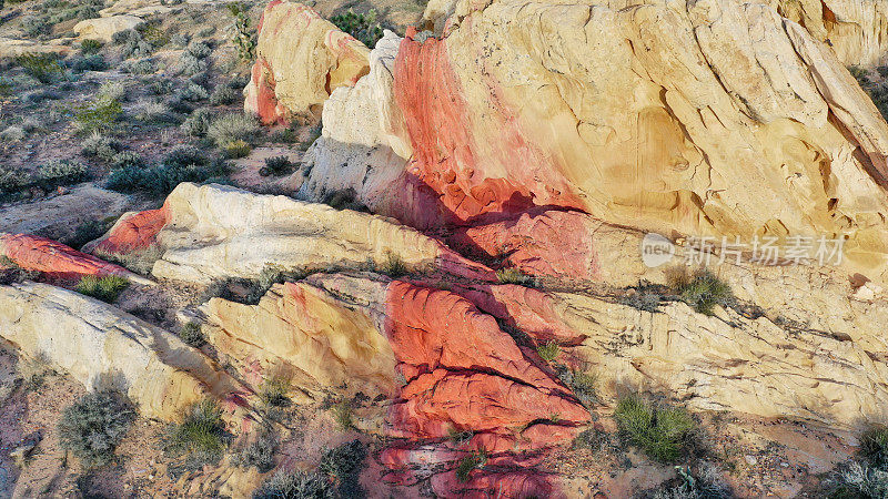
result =
[[212,298],[204,312],[209,342],[256,389],[276,375],[309,396],[395,393],[396,361],[385,335],[365,313],[316,287],[279,284],[254,306]]

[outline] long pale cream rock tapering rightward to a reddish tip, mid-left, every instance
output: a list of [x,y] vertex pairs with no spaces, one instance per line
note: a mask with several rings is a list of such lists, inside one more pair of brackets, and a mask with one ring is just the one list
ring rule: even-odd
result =
[[474,278],[492,272],[391,218],[222,185],[180,184],[167,198],[157,277],[209,283],[263,269],[384,267],[392,257]]

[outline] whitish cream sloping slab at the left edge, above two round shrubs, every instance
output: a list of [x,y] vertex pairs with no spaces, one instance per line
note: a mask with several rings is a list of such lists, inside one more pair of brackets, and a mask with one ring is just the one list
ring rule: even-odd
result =
[[[176,420],[204,397],[250,398],[201,352],[110,305],[47,284],[0,286],[0,336],[87,387],[122,388],[144,417]],[[236,410],[235,410],[236,409]]]

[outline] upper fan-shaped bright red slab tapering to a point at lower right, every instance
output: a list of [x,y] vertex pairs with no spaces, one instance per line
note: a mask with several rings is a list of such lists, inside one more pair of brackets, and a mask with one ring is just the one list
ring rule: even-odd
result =
[[386,308],[385,329],[395,358],[416,368],[402,369],[407,379],[437,368],[483,370],[543,393],[569,393],[528,361],[496,319],[455,293],[393,281]]

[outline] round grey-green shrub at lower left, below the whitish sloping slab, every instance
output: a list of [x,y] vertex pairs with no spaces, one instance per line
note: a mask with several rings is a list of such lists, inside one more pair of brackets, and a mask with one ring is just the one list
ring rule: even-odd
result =
[[59,439],[88,467],[103,466],[114,459],[114,449],[127,434],[135,411],[127,399],[110,390],[80,397],[62,411]]

